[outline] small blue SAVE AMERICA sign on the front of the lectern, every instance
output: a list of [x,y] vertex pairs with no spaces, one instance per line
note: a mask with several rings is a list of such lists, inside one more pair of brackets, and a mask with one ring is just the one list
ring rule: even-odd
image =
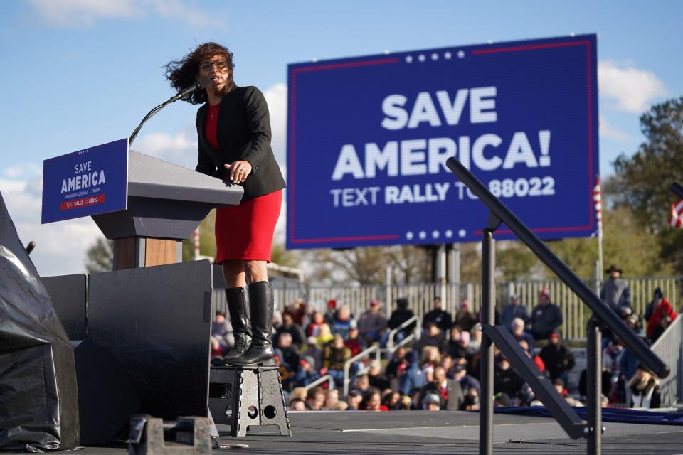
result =
[[128,139],[43,161],[43,224],[126,210],[127,200]]

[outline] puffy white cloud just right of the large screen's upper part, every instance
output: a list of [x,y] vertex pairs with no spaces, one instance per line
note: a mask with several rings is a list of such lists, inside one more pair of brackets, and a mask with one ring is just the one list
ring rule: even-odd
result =
[[642,113],[650,104],[667,95],[662,81],[649,70],[635,68],[632,62],[601,60],[598,64],[600,95],[614,100],[616,109]]

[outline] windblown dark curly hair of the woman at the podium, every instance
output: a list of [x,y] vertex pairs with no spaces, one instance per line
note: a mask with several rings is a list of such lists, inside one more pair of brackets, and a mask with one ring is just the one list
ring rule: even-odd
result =
[[[233,53],[218,43],[201,43],[195,50],[180,60],[171,60],[166,65],[166,79],[171,81],[171,87],[178,92],[182,92],[194,84],[197,73],[199,73],[199,63],[202,60],[208,60],[214,55],[221,55],[228,62],[228,83],[223,89],[223,93],[219,94],[225,95],[235,85],[233,82],[233,68],[235,68],[235,65],[233,64]],[[206,90],[196,90],[190,95],[183,97],[182,100],[198,105],[207,102],[208,96],[206,95]]]

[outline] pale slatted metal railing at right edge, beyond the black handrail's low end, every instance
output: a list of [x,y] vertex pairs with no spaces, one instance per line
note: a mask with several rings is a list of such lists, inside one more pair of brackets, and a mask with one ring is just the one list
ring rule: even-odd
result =
[[660,379],[661,407],[671,407],[683,402],[683,317],[674,319],[660,338],[652,344],[652,352],[671,366],[672,375]]

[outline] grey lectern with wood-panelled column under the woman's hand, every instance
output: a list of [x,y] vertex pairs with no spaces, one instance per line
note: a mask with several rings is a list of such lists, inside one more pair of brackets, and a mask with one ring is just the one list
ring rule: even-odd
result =
[[114,269],[181,262],[181,241],[211,209],[240,203],[243,188],[138,151],[128,152],[128,208],[93,215],[114,240]]

